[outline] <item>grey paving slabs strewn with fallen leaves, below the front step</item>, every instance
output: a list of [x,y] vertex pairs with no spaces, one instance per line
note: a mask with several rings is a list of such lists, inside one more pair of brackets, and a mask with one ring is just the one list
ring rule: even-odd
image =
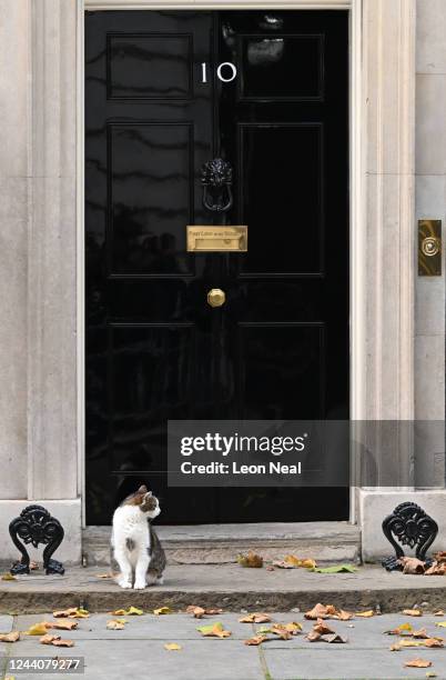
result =
[[[152,613],[126,617],[124,630],[107,630],[110,619],[104,613],[91,613],[79,620],[79,629],[61,632],[73,640],[71,649],[43,647],[39,637],[22,636],[22,639],[0,651],[0,661],[9,657],[83,657],[84,680],[123,680],[144,678],[148,680],[396,680],[401,678],[426,678],[426,671],[436,678],[446,679],[446,648],[408,648],[391,652],[389,646],[398,641],[396,636],[384,631],[409,622],[414,628],[426,628],[432,636],[446,638],[446,629],[436,626],[446,617],[423,614],[407,617],[403,613],[355,618],[351,621],[327,620],[336,632],[348,638],[345,644],[310,642],[305,640],[314,621],[303,613],[271,612],[274,622],[298,621],[304,632],[292,640],[274,640],[260,647],[249,647],[244,640],[251,638],[261,626],[240,623],[240,613],[224,613],[196,620],[190,614]],[[18,616],[13,629],[29,628],[41,620],[53,620],[51,612]],[[220,620],[232,631],[231,638],[204,638],[196,627]],[[354,628],[351,628],[351,627]],[[443,633],[445,631],[445,633]],[[55,632],[55,631],[54,631]],[[176,642],[179,651],[168,651],[164,644]],[[429,669],[405,668],[405,661],[419,657],[432,661]],[[14,674],[14,673],[12,673]],[[67,674],[18,674],[17,680],[62,680]],[[75,678],[77,676],[73,676]],[[0,679],[3,679],[0,672]]]

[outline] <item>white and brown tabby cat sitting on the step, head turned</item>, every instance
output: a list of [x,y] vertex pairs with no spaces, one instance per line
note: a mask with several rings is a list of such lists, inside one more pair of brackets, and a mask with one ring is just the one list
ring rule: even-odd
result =
[[145,486],[114,511],[111,548],[121,571],[121,588],[142,590],[163,583],[165,553],[151,523],[160,512],[158,498]]

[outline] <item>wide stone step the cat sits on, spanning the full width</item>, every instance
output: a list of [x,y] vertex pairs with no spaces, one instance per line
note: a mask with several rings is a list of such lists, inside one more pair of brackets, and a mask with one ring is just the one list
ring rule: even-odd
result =
[[446,578],[388,573],[377,566],[355,573],[322,574],[306,569],[244,569],[237,564],[168,566],[163,586],[123,590],[111,579],[100,579],[99,568],[68,568],[63,577],[33,572],[16,581],[0,581],[0,613],[40,613],[82,606],[90,611],[112,611],[131,604],[144,611],[189,604],[225,611],[306,611],[316,602],[349,611],[375,609],[397,612],[422,606],[446,609]]

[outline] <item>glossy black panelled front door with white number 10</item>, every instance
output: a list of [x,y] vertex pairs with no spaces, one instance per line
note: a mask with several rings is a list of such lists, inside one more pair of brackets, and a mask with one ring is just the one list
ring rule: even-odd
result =
[[[85,50],[88,523],[142,481],[164,523],[346,519],[347,489],[170,489],[165,446],[169,419],[348,418],[347,13],[88,12]],[[247,252],[186,251],[223,223]]]

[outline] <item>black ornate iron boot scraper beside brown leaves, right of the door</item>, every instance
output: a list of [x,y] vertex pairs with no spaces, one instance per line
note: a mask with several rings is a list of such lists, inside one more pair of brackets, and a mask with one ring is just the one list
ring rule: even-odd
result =
[[[395,549],[395,557],[388,557],[382,564],[387,571],[403,570],[399,559],[404,557],[402,546],[415,548],[418,560],[426,560],[426,552],[438,533],[437,522],[423,508],[413,502],[401,503],[383,521],[383,532]],[[398,544],[398,542],[401,544]]]

